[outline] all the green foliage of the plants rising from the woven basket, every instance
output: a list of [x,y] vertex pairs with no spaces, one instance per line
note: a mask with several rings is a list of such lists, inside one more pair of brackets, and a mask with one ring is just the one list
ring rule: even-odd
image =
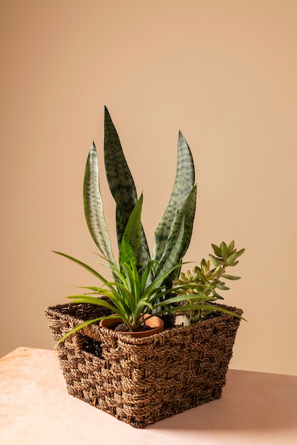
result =
[[[80,260],[62,252],[55,252],[84,267],[101,282],[99,286],[87,286],[85,294],[68,296],[72,302],[96,304],[117,314],[134,331],[142,323],[144,314],[183,313],[185,323],[200,321],[213,311],[212,301],[222,298],[217,290],[228,289],[225,279],[238,279],[225,274],[226,267],[237,264],[244,252],[228,246],[212,245],[215,255],[210,261],[202,259],[199,267],[180,274],[183,257],[188,250],[195,218],[197,188],[190,148],[178,134],[178,161],[175,183],[168,206],[154,234],[152,257],[141,225],[143,196],[137,198],[134,179],[121,148],[119,135],[106,107],[104,107],[104,166],[107,182],[116,202],[117,242],[119,265],[114,259],[107,224],[104,218],[102,195],[99,186],[99,167],[95,143],[92,144],[85,166],[83,199],[87,227],[103,258],[104,266],[112,272],[107,279]],[[178,279],[178,276],[180,277]],[[173,282],[175,284],[173,289]],[[173,294],[173,290],[175,294]],[[105,296],[106,299],[99,298]],[[177,306],[178,305],[178,306]],[[182,305],[182,306],[180,306]],[[216,311],[225,311],[216,307]],[[232,313],[237,316],[237,314]],[[69,335],[102,318],[87,320],[68,332]],[[57,343],[57,344],[58,344]]]

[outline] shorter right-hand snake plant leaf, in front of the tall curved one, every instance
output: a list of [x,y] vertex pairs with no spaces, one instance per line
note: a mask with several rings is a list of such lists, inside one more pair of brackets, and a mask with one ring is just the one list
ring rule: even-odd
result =
[[[180,263],[188,250],[195,218],[196,196],[197,186],[193,186],[183,207],[175,214],[166,247],[159,262],[158,275]],[[173,271],[170,277],[171,281],[178,277],[179,272],[180,269]]]

